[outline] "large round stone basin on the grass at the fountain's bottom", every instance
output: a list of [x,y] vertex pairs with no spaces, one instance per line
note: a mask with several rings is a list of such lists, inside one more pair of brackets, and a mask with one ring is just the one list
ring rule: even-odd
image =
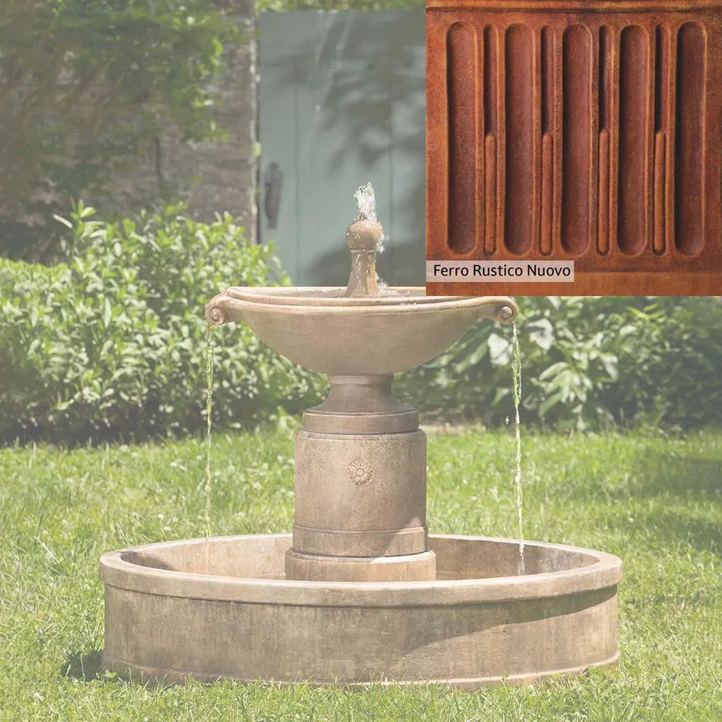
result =
[[[612,554],[432,534],[431,582],[284,580],[291,534],[105,554],[105,666],[121,674],[313,684],[538,682],[613,664]],[[394,557],[386,557],[393,560]]]

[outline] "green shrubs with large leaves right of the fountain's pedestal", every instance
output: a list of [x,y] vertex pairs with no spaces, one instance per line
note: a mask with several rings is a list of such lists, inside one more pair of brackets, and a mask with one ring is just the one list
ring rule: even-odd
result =
[[[722,424],[722,303],[713,297],[518,299],[525,422],[557,429]],[[513,415],[511,329],[480,323],[404,374],[397,395],[491,425]]]

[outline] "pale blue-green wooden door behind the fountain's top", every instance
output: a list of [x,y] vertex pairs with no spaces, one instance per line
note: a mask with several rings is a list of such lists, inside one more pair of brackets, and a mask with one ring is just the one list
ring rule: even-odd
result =
[[259,35],[261,240],[298,285],[345,285],[370,181],[393,285],[425,283],[425,13],[266,12]]

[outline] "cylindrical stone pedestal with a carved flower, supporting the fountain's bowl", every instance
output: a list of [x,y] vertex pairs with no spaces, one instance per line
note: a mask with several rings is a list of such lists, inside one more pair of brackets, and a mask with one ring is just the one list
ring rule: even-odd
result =
[[295,449],[295,524],[286,578],[431,581],[426,435],[391,393],[392,375],[329,376]]

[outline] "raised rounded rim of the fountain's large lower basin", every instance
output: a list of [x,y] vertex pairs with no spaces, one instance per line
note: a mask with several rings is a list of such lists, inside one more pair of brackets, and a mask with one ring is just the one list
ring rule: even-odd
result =
[[[518,544],[515,539],[458,534],[430,534],[430,547],[435,539],[480,544]],[[216,536],[216,542],[246,541],[282,542],[292,534],[244,534]],[[524,541],[524,547],[552,549],[555,552],[583,554],[591,557],[591,564],[573,569],[539,574],[435,580],[428,582],[314,582],[285,579],[230,577],[181,572],[147,567],[129,562],[124,556],[168,547],[203,544],[205,538],[161,541],[138,547],[127,547],[103,554],[100,558],[100,578],[117,588],[160,596],[214,601],[238,601],[247,604],[290,606],[453,606],[479,602],[521,601],[541,599],[616,586],[622,578],[622,560],[614,554],[566,544],[543,541]]]

